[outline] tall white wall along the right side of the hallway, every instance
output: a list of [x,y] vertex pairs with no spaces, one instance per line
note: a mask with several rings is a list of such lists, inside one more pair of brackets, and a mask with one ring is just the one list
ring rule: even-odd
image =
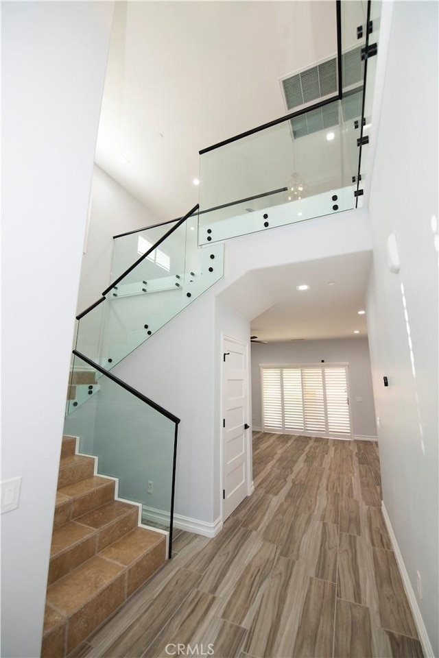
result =
[[394,3],[376,147],[367,318],[383,502],[415,593],[422,578],[417,602],[437,656],[438,3]]

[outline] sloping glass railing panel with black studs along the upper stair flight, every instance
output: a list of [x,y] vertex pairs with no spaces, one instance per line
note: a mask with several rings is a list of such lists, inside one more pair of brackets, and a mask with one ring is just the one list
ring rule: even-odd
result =
[[222,278],[223,246],[199,247],[197,221],[196,215],[189,217],[154,249],[168,260],[160,254],[159,262],[143,258],[80,317],[78,352],[111,369]]

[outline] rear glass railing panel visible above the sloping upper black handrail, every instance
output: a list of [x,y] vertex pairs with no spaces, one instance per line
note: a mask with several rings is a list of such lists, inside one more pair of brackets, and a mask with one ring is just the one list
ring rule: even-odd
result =
[[[175,226],[177,221],[152,226],[126,235],[115,236],[113,239],[111,280],[117,279],[139,256],[163,238],[169,229]],[[160,254],[158,256],[160,258]],[[154,254],[148,260],[148,263],[145,263],[145,274],[150,271],[148,266],[151,263],[154,263]]]

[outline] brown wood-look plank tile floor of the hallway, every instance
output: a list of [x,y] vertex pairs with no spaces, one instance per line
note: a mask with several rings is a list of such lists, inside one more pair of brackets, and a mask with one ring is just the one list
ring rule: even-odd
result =
[[165,657],[174,644],[214,658],[422,657],[378,444],[257,433],[253,478],[215,539],[176,532],[174,558],[75,658]]

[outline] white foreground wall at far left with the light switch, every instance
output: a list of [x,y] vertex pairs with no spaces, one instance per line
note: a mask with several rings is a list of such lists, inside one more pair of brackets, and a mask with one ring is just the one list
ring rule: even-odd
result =
[[3,2],[1,655],[40,655],[112,3]]

